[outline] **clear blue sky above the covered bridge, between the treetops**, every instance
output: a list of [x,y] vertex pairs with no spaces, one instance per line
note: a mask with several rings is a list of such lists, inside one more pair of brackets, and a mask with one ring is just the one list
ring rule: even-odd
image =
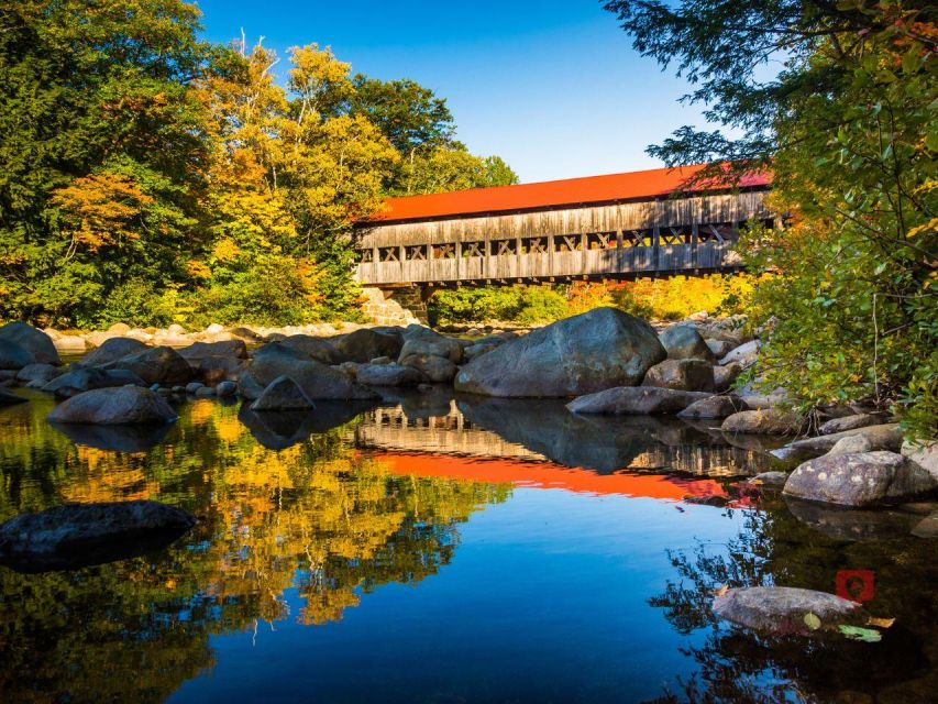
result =
[[412,78],[446,98],[459,138],[525,183],[660,166],[644,153],[676,127],[687,86],[639,57],[598,0],[404,2],[198,0],[206,37],[282,54],[331,45],[355,72]]

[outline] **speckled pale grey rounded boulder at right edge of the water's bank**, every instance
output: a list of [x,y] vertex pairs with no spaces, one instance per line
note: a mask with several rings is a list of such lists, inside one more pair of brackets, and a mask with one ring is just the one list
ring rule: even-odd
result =
[[787,496],[840,506],[880,506],[938,490],[938,479],[895,452],[856,452],[809,460],[792,472]]

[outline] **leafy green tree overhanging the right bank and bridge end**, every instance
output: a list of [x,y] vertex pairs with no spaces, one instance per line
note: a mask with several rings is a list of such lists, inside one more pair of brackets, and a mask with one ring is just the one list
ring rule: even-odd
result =
[[[768,384],[803,407],[869,397],[908,430],[938,430],[938,29],[929,3],[776,0],[609,2],[634,46],[675,61],[692,103],[732,128],[682,128],[649,152],[669,164],[771,165],[785,231],[752,232],[757,290],[779,319]],[[739,51],[746,47],[746,51]],[[763,78],[769,62],[783,59]],[[805,374],[805,371],[807,374]],[[793,380],[796,380],[793,383]]]

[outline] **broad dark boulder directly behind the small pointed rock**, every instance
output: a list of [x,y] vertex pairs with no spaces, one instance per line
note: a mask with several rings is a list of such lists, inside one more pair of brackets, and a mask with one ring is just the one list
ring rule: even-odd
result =
[[349,374],[306,358],[280,342],[266,344],[257,351],[249,371],[239,380],[239,392],[245,398],[257,398],[257,387],[263,391],[278,376],[294,380],[310,400],[367,400],[378,397],[356,384]]

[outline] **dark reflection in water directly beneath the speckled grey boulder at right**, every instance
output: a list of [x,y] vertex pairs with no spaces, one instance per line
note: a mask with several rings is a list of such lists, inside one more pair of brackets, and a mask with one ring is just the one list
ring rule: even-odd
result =
[[792,496],[784,498],[795,518],[834,540],[873,542],[907,538],[918,520],[917,516],[897,510],[864,510]]

